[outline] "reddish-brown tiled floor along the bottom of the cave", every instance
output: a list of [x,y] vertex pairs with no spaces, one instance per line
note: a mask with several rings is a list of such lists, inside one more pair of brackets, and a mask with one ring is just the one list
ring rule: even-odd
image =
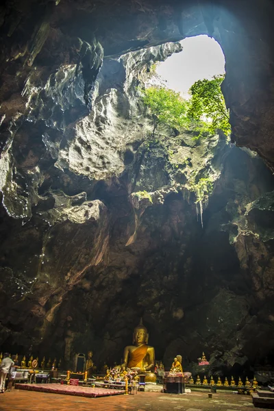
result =
[[[251,411],[251,397],[235,394],[191,393],[172,395],[138,393],[115,397],[84,398],[12,390],[0,394],[1,411]],[[256,408],[261,410],[261,408]]]

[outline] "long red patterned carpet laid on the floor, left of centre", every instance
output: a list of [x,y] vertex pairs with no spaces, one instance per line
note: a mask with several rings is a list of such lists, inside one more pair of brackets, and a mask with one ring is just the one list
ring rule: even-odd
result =
[[40,391],[41,393],[77,395],[79,397],[107,397],[108,395],[125,394],[125,390],[109,388],[90,388],[62,384],[15,384],[18,390]]

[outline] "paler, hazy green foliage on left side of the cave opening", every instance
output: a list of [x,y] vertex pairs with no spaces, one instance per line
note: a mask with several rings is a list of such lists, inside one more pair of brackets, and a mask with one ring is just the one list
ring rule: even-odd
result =
[[142,90],[142,100],[153,116],[153,136],[159,124],[180,128],[186,119],[186,102],[179,92],[164,86],[152,86]]

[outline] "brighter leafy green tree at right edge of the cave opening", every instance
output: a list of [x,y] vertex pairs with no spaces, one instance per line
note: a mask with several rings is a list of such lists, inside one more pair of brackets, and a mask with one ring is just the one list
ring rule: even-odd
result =
[[197,122],[197,130],[202,133],[215,134],[221,130],[225,136],[231,132],[229,112],[221,91],[224,76],[215,76],[212,80],[199,80],[190,87],[191,99],[187,116]]

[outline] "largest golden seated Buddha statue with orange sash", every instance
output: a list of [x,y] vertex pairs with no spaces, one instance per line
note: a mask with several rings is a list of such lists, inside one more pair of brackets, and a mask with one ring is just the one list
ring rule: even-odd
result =
[[[129,368],[137,371],[138,374],[152,374],[154,371],[155,351],[153,347],[147,345],[148,340],[147,328],[142,324],[141,320],[140,324],[134,329],[133,345],[125,347],[122,369]],[[155,374],[154,377],[156,377]],[[154,379],[154,377],[151,375],[151,378]]]

